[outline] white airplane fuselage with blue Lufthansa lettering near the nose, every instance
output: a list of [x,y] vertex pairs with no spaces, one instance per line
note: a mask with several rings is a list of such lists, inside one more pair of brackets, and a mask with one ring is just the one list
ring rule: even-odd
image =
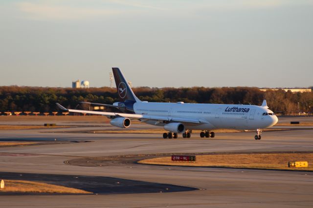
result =
[[[242,104],[184,104],[148,103],[134,104],[135,114],[166,116],[174,118],[200,119],[201,125],[185,125],[186,129],[240,129],[255,130],[268,128],[278,121],[276,115],[267,107]],[[165,125],[156,121],[144,121],[151,125]]]

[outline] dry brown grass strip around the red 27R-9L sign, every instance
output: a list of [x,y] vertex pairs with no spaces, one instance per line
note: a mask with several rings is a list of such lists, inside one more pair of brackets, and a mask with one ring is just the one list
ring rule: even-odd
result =
[[[236,168],[268,168],[313,170],[313,153],[267,153],[267,154],[220,154],[197,155],[196,162],[172,161],[171,157],[161,157],[141,160],[140,164],[156,164],[170,166],[211,166],[211,167],[236,167]],[[308,161],[309,167],[288,167],[288,162]]]

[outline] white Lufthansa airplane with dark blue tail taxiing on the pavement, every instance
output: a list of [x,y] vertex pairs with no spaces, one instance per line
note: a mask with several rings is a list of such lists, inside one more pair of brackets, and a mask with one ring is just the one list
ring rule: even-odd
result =
[[255,140],[261,139],[262,129],[275,125],[277,116],[268,109],[266,100],[261,106],[244,104],[189,104],[154,103],[140,101],[129,86],[119,68],[112,68],[120,102],[113,104],[96,104],[113,107],[121,112],[100,112],[89,110],[67,109],[61,104],[57,106],[67,112],[103,115],[111,119],[110,124],[120,128],[131,126],[132,120],[163,126],[168,131],[163,138],[190,138],[192,130],[201,130],[201,138],[214,138],[216,129],[255,130]]

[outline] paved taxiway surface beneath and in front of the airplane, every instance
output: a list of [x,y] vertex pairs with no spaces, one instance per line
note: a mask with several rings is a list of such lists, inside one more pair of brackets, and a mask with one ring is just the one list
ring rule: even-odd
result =
[[[144,125],[134,125],[141,128]],[[105,129],[109,125],[79,129]],[[151,126],[149,126],[151,128]],[[196,187],[171,193],[107,195],[43,195],[1,197],[0,207],[312,207],[313,173],[180,166],[148,166],[111,162],[106,166],[73,166],[65,161],[85,157],[188,152],[312,151],[313,129],[217,133],[216,138],[161,139],[159,134],[67,133],[67,129],[2,130],[0,139],[91,141],[0,148],[0,171],[117,177]]]

